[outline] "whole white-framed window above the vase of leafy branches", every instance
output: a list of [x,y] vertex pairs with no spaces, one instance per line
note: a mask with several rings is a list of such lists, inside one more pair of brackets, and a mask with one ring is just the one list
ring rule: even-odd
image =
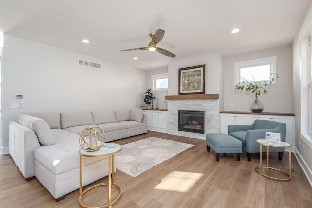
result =
[[[235,83],[269,81],[276,75],[277,56],[234,62]],[[276,77],[274,77],[276,78]],[[276,79],[272,84],[276,83]]]

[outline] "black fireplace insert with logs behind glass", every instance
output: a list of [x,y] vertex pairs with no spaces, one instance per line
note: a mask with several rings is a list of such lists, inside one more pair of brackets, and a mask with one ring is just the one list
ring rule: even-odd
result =
[[178,130],[205,134],[205,111],[179,110]]

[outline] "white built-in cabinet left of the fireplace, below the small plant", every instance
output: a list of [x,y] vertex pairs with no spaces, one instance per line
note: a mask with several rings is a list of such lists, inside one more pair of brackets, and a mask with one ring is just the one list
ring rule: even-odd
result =
[[167,133],[168,113],[165,110],[145,110],[147,130]]

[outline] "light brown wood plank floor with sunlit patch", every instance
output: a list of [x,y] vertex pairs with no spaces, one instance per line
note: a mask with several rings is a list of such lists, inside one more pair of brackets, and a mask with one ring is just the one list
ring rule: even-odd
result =
[[[149,131],[114,143],[122,145],[151,136],[194,146],[135,178],[117,170],[115,182],[123,193],[114,208],[312,208],[312,187],[293,154],[292,180],[274,181],[255,171],[259,154],[253,154],[251,162],[246,153],[240,162],[236,154],[221,154],[216,162],[215,152],[207,152],[205,140]],[[284,153],[282,161],[277,158],[277,153],[270,154],[269,166],[285,170],[288,153]],[[176,175],[168,182],[173,173]],[[107,182],[107,177],[95,183],[100,182]],[[164,186],[156,189],[159,184]],[[99,206],[94,203],[107,199],[104,189],[97,187],[86,193],[84,202]],[[25,181],[9,155],[0,156],[1,208],[78,208],[78,196],[76,190],[55,202],[37,179]]]

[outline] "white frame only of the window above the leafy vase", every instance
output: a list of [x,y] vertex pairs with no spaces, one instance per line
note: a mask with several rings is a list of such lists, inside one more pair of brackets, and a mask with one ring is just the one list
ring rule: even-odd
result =
[[[270,77],[268,77],[266,80],[263,80],[263,81],[269,81],[270,79],[272,80],[272,78],[274,78],[274,81],[272,81],[271,84],[276,84],[276,62],[277,62],[277,56],[269,56],[269,57],[264,57],[264,58],[234,62],[234,86],[240,83],[240,77],[241,77],[240,69],[241,68],[263,66],[263,65],[270,65]],[[261,80],[257,80],[257,81],[261,82]]]

